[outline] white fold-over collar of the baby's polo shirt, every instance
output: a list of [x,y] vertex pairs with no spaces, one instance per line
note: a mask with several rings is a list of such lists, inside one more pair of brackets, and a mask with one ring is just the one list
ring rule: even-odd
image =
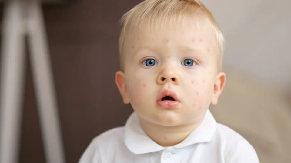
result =
[[[216,121],[209,110],[200,124],[185,140],[181,143],[174,145],[174,148],[184,148],[188,145],[210,142],[215,131]],[[161,151],[166,147],[162,147],[154,142],[149,136],[144,133],[139,123],[139,118],[133,112],[125,124],[125,145],[134,154],[143,154]]]

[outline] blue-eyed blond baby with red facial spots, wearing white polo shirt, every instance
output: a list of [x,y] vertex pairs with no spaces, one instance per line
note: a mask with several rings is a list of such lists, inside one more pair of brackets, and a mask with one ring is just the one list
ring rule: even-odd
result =
[[79,163],[258,163],[208,110],[226,81],[224,37],[199,0],[145,0],[122,17],[115,82],[134,112],[92,140]]

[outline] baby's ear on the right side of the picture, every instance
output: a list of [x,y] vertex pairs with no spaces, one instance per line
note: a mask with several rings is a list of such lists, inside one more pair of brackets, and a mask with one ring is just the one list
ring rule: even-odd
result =
[[213,90],[213,95],[211,99],[211,104],[216,105],[218,102],[218,98],[224,88],[226,81],[226,75],[224,72],[220,72],[217,74],[216,81],[214,83],[214,90]]

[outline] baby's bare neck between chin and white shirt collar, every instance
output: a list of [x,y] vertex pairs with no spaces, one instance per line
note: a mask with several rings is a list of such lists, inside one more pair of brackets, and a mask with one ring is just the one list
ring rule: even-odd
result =
[[140,119],[143,131],[157,144],[168,147],[179,144],[189,136],[202,122],[179,126],[162,126]]

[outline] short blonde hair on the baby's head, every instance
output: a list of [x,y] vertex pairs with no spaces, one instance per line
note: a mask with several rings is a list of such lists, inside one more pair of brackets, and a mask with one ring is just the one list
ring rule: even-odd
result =
[[216,34],[219,48],[218,71],[221,71],[225,40],[211,12],[199,0],[145,0],[125,13],[121,18],[122,30],[119,37],[121,70],[124,70],[123,47],[125,37],[129,31],[136,28],[139,30],[154,30],[165,25],[167,22],[179,24],[178,21],[192,18],[198,13],[206,16],[206,21],[211,24]]

